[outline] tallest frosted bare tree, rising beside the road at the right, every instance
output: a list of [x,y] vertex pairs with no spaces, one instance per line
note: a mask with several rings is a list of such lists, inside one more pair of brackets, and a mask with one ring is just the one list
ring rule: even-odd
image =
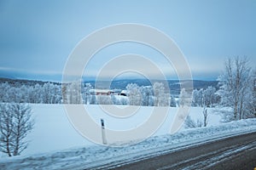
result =
[[251,68],[247,58],[228,59],[225,62],[224,72],[218,77],[222,105],[233,109],[234,119],[244,118],[246,104],[252,93]]

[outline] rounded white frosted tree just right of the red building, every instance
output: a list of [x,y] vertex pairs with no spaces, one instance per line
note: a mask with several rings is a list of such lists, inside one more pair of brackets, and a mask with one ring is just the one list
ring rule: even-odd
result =
[[141,105],[142,95],[140,93],[140,88],[137,83],[129,83],[126,86],[126,89],[129,93],[129,105]]

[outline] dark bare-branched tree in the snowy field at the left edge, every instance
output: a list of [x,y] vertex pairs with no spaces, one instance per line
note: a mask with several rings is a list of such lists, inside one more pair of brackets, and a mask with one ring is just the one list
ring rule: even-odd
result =
[[0,150],[18,156],[26,149],[26,135],[32,130],[32,110],[25,104],[0,105]]

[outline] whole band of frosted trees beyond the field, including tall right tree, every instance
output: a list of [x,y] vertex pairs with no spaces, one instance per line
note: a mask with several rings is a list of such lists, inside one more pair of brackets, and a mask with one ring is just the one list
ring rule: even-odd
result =
[[[192,106],[228,106],[233,109],[233,119],[256,116],[256,71],[249,66],[247,58],[227,59],[224,71],[218,77],[218,88],[194,89]],[[9,82],[0,84],[1,103],[36,104],[90,104],[90,105],[144,105],[144,106],[183,106],[189,98],[186,89],[181,89],[178,99],[169,94],[162,82],[151,86],[126,86],[126,98],[115,95],[96,96],[90,93],[90,83],[80,81],[67,84],[47,82],[35,85],[15,86]]]

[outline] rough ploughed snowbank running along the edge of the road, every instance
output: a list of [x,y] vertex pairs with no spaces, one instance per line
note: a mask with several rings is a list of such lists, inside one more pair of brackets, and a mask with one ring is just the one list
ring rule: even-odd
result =
[[139,144],[127,147],[85,146],[69,150],[52,151],[32,156],[2,158],[0,169],[85,169],[104,167],[111,163],[129,162],[156,156],[168,150],[178,150],[191,144],[204,143],[238,133],[256,131],[256,119],[224,123],[218,126],[186,129],[175,134],[153,136]]

